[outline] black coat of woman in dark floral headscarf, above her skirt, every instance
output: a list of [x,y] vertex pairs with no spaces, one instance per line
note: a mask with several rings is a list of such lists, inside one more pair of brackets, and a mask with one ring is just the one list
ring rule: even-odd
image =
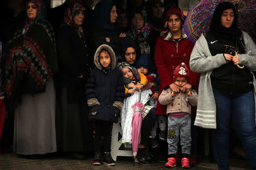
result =
[[[59,87],[67,87],[67,97],[71,103],[79,101],[85,82],[89,77],[92,60],[89,57],[87,45],[77,34],[76,28],[60,27],[57,38],[60,67],[57,83]],[[83,77],[78,78],[81,74]]]

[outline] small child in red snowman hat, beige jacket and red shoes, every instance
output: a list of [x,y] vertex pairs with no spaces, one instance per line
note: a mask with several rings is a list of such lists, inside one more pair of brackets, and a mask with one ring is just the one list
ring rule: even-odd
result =
[[[173,74],[175,85],[182,88],[189,79],[189,70],[187,65],[181,63],[178,65]],[[197,105],[196,90],[187,90],[184,92],[174,92],[171,88],[163,90],[159,96],[159,103],[167,105],[166,114],[168,116],[168,162],[166,167],[176,166],[177,143],[179,142],[182,149],[182,168],[189,168],[188,156],[191,149],[191,105]]]

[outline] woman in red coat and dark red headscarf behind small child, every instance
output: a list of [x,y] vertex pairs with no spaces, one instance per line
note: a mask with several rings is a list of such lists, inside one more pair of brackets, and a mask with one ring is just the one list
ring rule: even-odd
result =
[[[192,88],[192,86],[193,89],[197,89],[200,74],[192,72],[189,68],[189,59],[193,49],[193,43],[187,39],[187,35],[183,29],[183,12],[178,7],[169,9],[166,13],[165,20],[166,23],[160,37],[156,40],[155,47],[155,64],[160,77],[159,94],[161,94],[163,89],[166,88],[171,88],[173,92],[177,93],[179,93],[180,90],[182,92],[187,92]],[[174,69],[181,63],[185,63],[191,73],[188,83],[182,88],[175,85],[172,80]],[[159,119],[162,120],[159,121],[160,139],[167,139],[167,136],[171,135],[166,132],[166,106],[160,105],[158,102],[156,106],[156,114],[159,116]],[[193,114],[191,115],[193,119]],[[172,130],[168,130],[168,132],[171,131]],[[172,155],[169,157],[175,157],[175,154],[176,153],[174,153],[174,151],[168,151],[168,155]],[[187,152],[184,154],[187,154],[187,156],[183,155],[184,157],[188,157],[191,153]]]

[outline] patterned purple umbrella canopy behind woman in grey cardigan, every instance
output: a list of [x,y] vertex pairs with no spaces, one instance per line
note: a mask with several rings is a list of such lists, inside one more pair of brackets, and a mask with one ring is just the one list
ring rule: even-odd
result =
[[[214,10],[220,2],[224,2],[224,0],[203,0],[188,12],[184,30],[191,42],[196,43],[203,32],[209,31]],[[228,2],[237,6],[238,28],[247,32],[255,42],[255,0],[228,0]]]

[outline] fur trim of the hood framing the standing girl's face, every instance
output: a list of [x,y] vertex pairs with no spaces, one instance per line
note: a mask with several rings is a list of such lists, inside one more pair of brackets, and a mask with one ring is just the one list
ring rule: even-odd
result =
[[96,67],[98,69],[102,70],[102,67],[101,67],[100,61],[98,60],[98,57],[100,56],[100,52],[103,48],[105,48],[106,51],[108,51],[110,54],[111,70],[113,70],[115,68],[115,63],[116,63],[115,53],[114,53],[113,49],[109,45],[106,45],[106,44],[102,44],[102,45],[100,45],[100,47],[97,48],[95,55],[94,55],[94,64],[96,65]]

